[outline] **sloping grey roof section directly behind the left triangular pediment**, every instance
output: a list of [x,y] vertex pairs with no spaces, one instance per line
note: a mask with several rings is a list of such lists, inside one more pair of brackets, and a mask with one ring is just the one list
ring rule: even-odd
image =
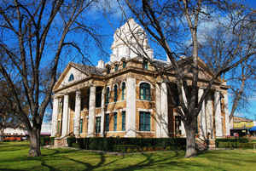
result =
[[79,71],[83,71],[86,74],[90,73],[90,74],[102,76],[103,71],[105,71],[105,69],[98,68],[96,66],[87,66],[87,65],[83,65],[83,64],[76,64],[73,62],[70,62],[70,65],[77,68]]

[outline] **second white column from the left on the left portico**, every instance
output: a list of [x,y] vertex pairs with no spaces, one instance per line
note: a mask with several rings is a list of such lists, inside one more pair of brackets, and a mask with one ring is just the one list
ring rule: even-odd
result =
[[63,118],[62,118],[62,132],[61,137],[67,135],[67,128],[68,128],[68,94],[64,95],[64,105],[63,105]]

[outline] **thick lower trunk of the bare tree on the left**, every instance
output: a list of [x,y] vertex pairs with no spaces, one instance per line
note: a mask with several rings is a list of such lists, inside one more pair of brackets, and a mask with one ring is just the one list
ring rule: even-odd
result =
[[28,152],[29,157],[41,156],[40,150],[40,128],[33,127],[31,131],[28,131],[30,140],[30,150]]

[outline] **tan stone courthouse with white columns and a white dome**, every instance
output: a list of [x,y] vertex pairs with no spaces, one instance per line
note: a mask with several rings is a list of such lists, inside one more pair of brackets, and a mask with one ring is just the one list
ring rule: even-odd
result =
[[[132,19],[115,31],[113,38],[113,54],[107,64],[102,60],[97,66],[70,62],[55,83],[51,130],[55,142],[68,135],[185,136],[183,123],[175,111],[177,86],[171,63],[154,59],[145,31]],[[147,60],[139,57],[140,52],[147,55]],[[183,58],[178,64],[189,71],[189,60]],[[199,65],[201,96],[211,72],[203,61],[200,60]],[[164,77],[171,83],[158,74],[155,66],[169,68]],[[227,89],[221,79],[213,84],[198,117],[201,136],[215,138],[230,134]]]

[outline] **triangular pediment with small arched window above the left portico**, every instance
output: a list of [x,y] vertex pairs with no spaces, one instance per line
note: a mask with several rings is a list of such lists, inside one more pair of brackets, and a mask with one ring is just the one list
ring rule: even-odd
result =
[[75,64],[69,63],[55,83],[54,91],[58,88],[63,88],[67,85],[76,83],[86,77],[89,77],[89,73],[80,70]]

